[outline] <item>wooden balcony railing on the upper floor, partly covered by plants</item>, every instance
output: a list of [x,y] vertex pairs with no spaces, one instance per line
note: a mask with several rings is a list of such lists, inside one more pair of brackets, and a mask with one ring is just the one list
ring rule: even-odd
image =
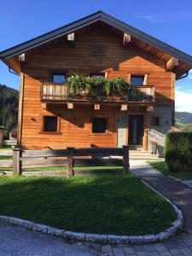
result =
[[105,96],[98,94],[95,96],[69,95],[67,84],[43,83],[41,85],[41,100],[44,102],[154,102],[154,85],[132,86],[125,96],[113,95]]

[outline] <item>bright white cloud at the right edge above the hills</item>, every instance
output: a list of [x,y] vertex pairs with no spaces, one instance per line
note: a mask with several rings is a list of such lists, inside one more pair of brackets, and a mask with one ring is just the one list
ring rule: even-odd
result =
[[176,90],[176,110],[192,113],[192,92]]

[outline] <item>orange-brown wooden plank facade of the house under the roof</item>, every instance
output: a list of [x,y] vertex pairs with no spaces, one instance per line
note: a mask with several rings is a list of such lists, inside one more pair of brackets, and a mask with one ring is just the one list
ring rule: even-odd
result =
[[[129,144],[129,116],[140,115],[142,147],[147,150],[148,113],[156,106],[172,109],[170,125],[173,125],[174,84],[177,73],[181,73],[178,67],[177,72],[174,68],[178,62],[171,60],[172,55],[163,54],[102,21],[79,28],[73,36],[58,37],[29,49],[20,55],[20,61],[17,57],[8,58],[7,64],[12,63],[15,71],[20,70],[18,146],[21,148],[117,147],[121,116],[125,119],[124,144]],[[179,63],[184,65],[183,61]],[[131,75],[142,75],[144,83],[137,89],[143,92],[143,99],[102,102],[69,99],[66,84],[51,84],[52,73],[67,76],[105,73],[107,79],[123,77],[128,82]],[[144,95],[150,96],[150,100]],[[44,131],[44,116],[58,117],[57,131]],[[92,132],[93,118],[107,119],[105,133]]]

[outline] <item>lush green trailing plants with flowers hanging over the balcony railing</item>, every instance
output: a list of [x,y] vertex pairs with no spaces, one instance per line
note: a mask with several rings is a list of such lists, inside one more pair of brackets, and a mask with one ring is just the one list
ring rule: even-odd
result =
[[67,79],[70,95],[96,96],[96,95],[119,95],[124,96],[131,90],[131,84],[123,78],[105,79],[90,78],[75,74]]

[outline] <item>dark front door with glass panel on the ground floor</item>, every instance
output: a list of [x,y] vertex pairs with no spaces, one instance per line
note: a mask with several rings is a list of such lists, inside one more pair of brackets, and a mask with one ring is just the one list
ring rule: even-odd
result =
[[129,144],[143,145],[143,115],[129,115]]

